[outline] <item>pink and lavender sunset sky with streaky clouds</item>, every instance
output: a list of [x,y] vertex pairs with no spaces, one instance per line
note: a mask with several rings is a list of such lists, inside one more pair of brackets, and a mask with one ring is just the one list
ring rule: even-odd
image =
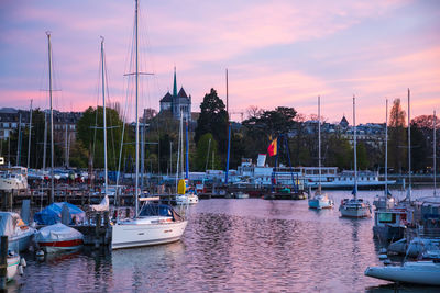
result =
[[[131,0],[2,0],[0,3],[0,108],[48,108],[47,37],[52,32],[54,106],[84,111],[101,103],[100,36],[111,102],[127,98],[134,23]],[[177,83],[200,111],[215,88],[229,108],[294,106],[329,122],[384,122],[385,98],[411,90],[411,116],[440,112],[440,1],[243,0],[141,1],[141,108]],[[133,119],[133,110],[128,115]],[[233,115],[240,120],[240,115]]]

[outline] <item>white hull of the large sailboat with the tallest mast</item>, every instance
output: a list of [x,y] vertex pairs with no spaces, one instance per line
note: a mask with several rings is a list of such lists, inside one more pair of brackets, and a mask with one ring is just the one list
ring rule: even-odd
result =
[[158,224],[116,224],[112,249],[174,243],[180,239],[188,221]]

